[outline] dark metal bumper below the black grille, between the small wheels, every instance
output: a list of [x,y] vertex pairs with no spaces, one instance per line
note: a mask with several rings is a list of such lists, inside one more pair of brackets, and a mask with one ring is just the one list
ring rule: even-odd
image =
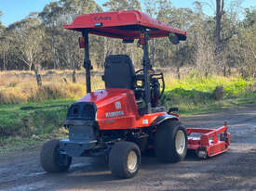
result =
[[81,157],[83,154],[96,147],[97,140],[92,141],[73,141],[70,139],[61,139],[60,151],[70,157]]

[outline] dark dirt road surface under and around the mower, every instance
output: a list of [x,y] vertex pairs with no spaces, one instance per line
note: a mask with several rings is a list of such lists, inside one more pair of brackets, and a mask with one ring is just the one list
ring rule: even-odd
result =
[[48,174],[39,165],[38,148],[0,158],[0,190],[256,190],[256,104],[182,120],[187,127],[208,128],[227,121],[230,150],[211,159],[188,155],[173,164],[144,157],[137,176],[121,180],[101,158],[74,159],[69,172]]

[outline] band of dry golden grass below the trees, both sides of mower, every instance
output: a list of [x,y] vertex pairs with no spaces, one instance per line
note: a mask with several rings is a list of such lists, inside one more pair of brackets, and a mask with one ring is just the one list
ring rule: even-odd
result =
[[[163,69],[156,69],[156,72],[158,70]],[[184,68],[181,70],[182,80],[178,81],[175,70],[171,68],[164,70],[166,91],[182,88],[184,90],[212,92],[216,86],[223,85],[225,93],[233,96],[246,92],[245,90],[249,87],[250,91],[255,90],[254,86],[256,83],[243,81],[236,75],[229,78],[211,76],[209,79],[204,79],[196,77],[195,71],[191,68]],[[0,72],[0,104],[26,103],[29,101],[60,98],[80,98],[86,94],[85,71],[76,71],[77,83],[72,83],[72,73],[73,70],[43,70],[41,71],[43,86],[38,88],[33,71],[2,71]],[[101,74],[101,71],[92,71],[92,90],[104,88],[104,83],[101,81]]]

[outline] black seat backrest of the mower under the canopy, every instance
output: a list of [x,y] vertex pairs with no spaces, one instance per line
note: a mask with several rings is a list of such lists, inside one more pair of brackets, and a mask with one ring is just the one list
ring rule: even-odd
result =
[[106,88],[134,89],[135,70],[128,55],[106,57],[103,81]]

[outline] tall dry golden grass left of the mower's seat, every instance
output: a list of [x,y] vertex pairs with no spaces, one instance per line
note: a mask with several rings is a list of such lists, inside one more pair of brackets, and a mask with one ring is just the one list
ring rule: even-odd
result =
[[[31,71],[4,71],[0,73],[0,104],[17,104],[46,99],[74,98],[86,94],[84,71],[77,72],[77,83],[72,83],[71,70],[42,72],[43,86],[38,88]],[[91,78],[92,89],[103,88],[101,75]]]

